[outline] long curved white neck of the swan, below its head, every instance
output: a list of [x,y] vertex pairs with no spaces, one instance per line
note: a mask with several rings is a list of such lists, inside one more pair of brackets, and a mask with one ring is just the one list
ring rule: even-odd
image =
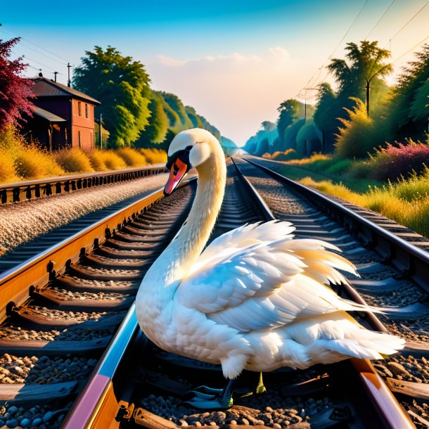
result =
[[191,212],[177,236],[151,267],[162,273],[165,287],[186,276],[203,251],[224,198],[226,165],[223,153],[213,154],[197,167],[198,187]]

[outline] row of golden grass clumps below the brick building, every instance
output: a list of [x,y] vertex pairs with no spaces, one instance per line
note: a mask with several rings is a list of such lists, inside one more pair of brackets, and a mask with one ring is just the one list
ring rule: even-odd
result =
[[0,184],[77,172],[141,167],[166,161],[167,153],[160,149],[96,149],[84,152],[79,148],[69,148],[49,153],[35,143],[27,143],[13,127],[0,132]]

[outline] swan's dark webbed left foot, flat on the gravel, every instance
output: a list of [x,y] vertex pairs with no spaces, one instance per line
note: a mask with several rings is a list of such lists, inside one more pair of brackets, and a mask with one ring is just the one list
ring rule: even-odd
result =
[[182,404],[192,406],[196,409],[221,411],[229,409],[233,405],[233,385],[234,380],[228,380],[224,389],[212,389],[207,386],[200,386],[196,390],[188,392],[192,397]]

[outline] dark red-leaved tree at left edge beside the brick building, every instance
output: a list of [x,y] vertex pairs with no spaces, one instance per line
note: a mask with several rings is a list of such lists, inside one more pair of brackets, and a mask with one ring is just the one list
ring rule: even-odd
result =
[[20,37],[3,41],[0,39],[0,131],[10,124],[19,126],[18,120],[24,120],[23,114],[32,115],[32,82],[20,77],[27,68],[23,58],[11,60],[11,49],[20,41]]

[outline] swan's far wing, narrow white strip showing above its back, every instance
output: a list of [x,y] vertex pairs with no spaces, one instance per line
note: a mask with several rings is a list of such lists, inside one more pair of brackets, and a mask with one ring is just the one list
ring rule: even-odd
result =
[[295,226],[292,226],[290,222],[278,222],[276,220],[239,226],[215,238],[198,257],[191,272],[197,271],[209,262],[222,260],[227,255],[232,255],[239,249],[248,248],[251,245],[276,241],[280,238],[291,239],[293,238],[291,235],[293,231],[295,231]]

